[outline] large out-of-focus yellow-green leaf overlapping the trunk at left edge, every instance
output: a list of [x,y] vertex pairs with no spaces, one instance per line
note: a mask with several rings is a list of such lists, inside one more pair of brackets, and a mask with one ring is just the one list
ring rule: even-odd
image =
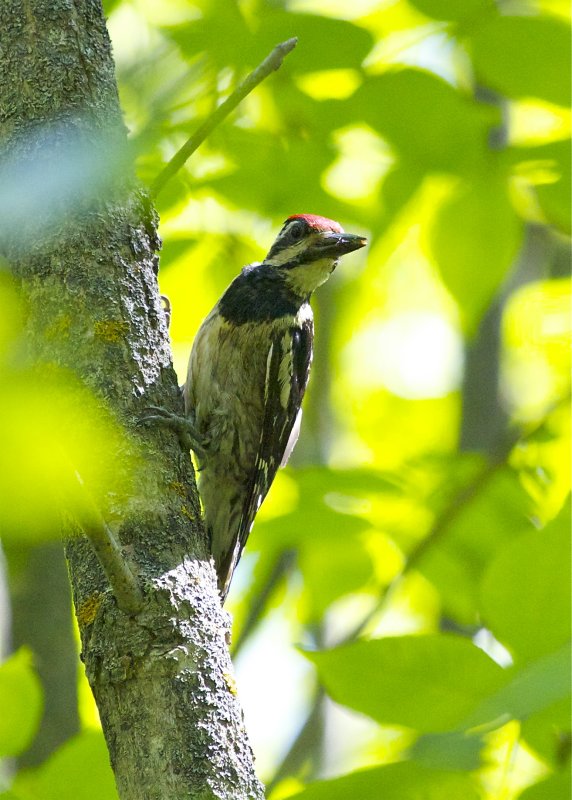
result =
[[64,509],[81,519],[85,492],[100,504],[127,490],[133,450],[75,376],[36,366],[1,375],[0,385],[2,535],[58,536]]

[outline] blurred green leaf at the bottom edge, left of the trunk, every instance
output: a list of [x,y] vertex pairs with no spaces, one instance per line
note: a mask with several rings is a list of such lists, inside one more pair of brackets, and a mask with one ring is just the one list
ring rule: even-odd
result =
[[41,800],[118,800],[103,734],[87,731],[69,739],[42,766],[22,776],[21,793]]

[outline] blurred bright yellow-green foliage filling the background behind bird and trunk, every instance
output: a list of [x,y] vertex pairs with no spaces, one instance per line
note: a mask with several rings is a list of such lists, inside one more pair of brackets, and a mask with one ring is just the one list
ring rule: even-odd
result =
[[[568,4],[104,5],[146,183],[274,44],[299,37],[158,198],[181,381],[201,320],[285,217],[324,214],[370,240],[315,298],[302,436],[229,601],[269,796],[564,800]],[[2,532],[35,536],[53,530],[70,461],[102,503],[115,491],[97,473],[105,454],[85,454],[117,434],[105,418],[105,436],[86,440],[81,390],[53,371],[38,421],[38,375],[0,278]],[[459,452],[464,356],[494,308],[487,358],[511,428],[494,452]],[[26,687],[30,665],[18,663]],[[86,733],[4,797],[114,796],[85,686],[81,696]],[[310,735],[316,703],[323,733]]]

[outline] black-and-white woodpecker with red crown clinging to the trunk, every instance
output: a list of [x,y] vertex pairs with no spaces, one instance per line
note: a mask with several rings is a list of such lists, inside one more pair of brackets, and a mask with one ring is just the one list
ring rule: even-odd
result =
[[264,261],[244,267],[195,338],[182,427],[198,461],[223,602],[258,509],[298,439],[312,363],[310,297],[340,256],[365,244],[325,217],[289,217]]

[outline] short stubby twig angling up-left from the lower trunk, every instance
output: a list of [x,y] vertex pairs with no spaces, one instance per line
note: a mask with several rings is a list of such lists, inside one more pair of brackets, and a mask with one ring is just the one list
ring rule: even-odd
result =
[[137,579],[81,477],[77,473],[76,477],[79,487],[78,522],[95,550],[117,605],[126,614],[137,614],[143,607],[143,594]]

